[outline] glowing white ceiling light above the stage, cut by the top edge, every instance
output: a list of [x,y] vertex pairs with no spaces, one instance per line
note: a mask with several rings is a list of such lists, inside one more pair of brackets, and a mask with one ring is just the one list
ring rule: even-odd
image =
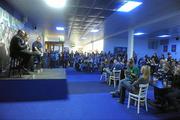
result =
[[63,8],[67,0],[44,0],[47,5],[53,8]]

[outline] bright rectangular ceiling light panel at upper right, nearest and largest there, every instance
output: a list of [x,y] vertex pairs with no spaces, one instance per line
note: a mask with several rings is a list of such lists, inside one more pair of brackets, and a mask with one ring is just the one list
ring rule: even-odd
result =
[[130,12],[133,9],[135,9],[136,7],[140,6],[141,4],[142,4],[142,2],[128,1],[128,2],[125,2],[125,4],[123,6],[121,6],[117,11]]

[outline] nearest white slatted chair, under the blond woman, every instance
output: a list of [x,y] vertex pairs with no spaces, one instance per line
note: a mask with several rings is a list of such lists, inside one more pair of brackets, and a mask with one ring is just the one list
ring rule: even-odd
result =
[[131,99],[136,102],[138,102],[137,106],[137,113],[139,114],[140,105],[143,102],[145,104],[146,111],[148,111],[147,107],[147,91],[148,91],[149,84],[140,84],[139,85],[139,94],[129,93],[128,97],[128,105],[127,108],[130,107]]

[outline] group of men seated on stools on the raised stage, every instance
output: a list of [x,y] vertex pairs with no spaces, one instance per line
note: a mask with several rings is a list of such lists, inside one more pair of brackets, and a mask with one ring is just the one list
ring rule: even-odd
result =
[[40,63],[43,56],[41,37],[37,37],[32,47],[30,47],[28,40],[28,33],[18,30],[10,42],[10,57],[21,59],[20,66],[25,73],[34,71],[34,64]]

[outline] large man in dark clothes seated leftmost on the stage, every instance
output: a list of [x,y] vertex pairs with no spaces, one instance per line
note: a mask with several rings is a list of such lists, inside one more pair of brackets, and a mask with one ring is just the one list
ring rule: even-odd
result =
[[18,30],[10,42],[10,57],[22,58],[21,66],[27,72],[32,57],[32,52],[27,50],[27,43],[24,40],[25,32]]

